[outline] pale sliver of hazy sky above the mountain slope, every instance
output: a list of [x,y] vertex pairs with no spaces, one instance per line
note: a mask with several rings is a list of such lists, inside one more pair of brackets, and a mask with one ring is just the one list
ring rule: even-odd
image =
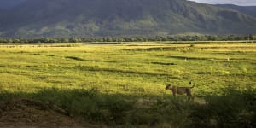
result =
[[256,0],[190,0],[190,1],[195,1],[198,3],[212,3],[212,4],[232,3],[232,4],[236,4],[236,5],[242,5],[242,6],[250,6],[250,5],[255,6],[256,5]]

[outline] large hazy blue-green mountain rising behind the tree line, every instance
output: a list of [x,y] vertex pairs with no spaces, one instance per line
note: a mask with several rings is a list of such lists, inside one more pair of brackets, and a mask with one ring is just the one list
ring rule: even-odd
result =
[[186,0],[2,0],[0,37],[254,34],[256,7]]

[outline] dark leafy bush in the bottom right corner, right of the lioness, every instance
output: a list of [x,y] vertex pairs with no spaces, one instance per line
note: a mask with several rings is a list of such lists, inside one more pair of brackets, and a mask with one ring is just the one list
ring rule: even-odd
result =
[[189,118],[194,127],[256,126],[256,90],[234,87],[222,96],[206,96],[205,104],[195,104]]

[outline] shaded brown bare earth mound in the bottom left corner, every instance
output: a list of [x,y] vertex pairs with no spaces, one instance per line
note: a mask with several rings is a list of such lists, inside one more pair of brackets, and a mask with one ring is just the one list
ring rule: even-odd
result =
[[40,102],[15,100],[0,103],[0,128],[98,128],[102,125],[79,123],[58,108],[49,108]]

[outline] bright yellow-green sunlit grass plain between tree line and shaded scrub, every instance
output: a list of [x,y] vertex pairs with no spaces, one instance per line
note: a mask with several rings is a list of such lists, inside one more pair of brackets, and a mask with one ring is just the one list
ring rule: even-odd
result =
[[166,84],[195,94],[255,86],[256,44],[73,45],[0,48],[3,90],[97,88],[104,93],[166,94]]

